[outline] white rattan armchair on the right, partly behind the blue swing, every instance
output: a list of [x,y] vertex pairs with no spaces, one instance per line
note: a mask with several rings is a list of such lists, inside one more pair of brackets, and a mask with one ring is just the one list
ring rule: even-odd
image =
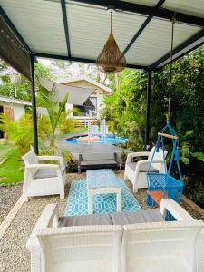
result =
[[[131,180],[133,185],[133,191],[137,192],[140,188],[148,188],[146,173],[149,169],[151,163],[151,157],[154,152],[154,147],[150,152],[135,152],[129,153],[124,171],[124,180]],[[167,151],[164,151],[164,156],[166,158]],[[137,157],[147,157],[147,160],[140,160],[138,162],[131,161]],[[163,161],[163,151],[159,149],[159,152],[155,152],[154,158],[151,163],[151,172],[165,172],[165,164]]]

